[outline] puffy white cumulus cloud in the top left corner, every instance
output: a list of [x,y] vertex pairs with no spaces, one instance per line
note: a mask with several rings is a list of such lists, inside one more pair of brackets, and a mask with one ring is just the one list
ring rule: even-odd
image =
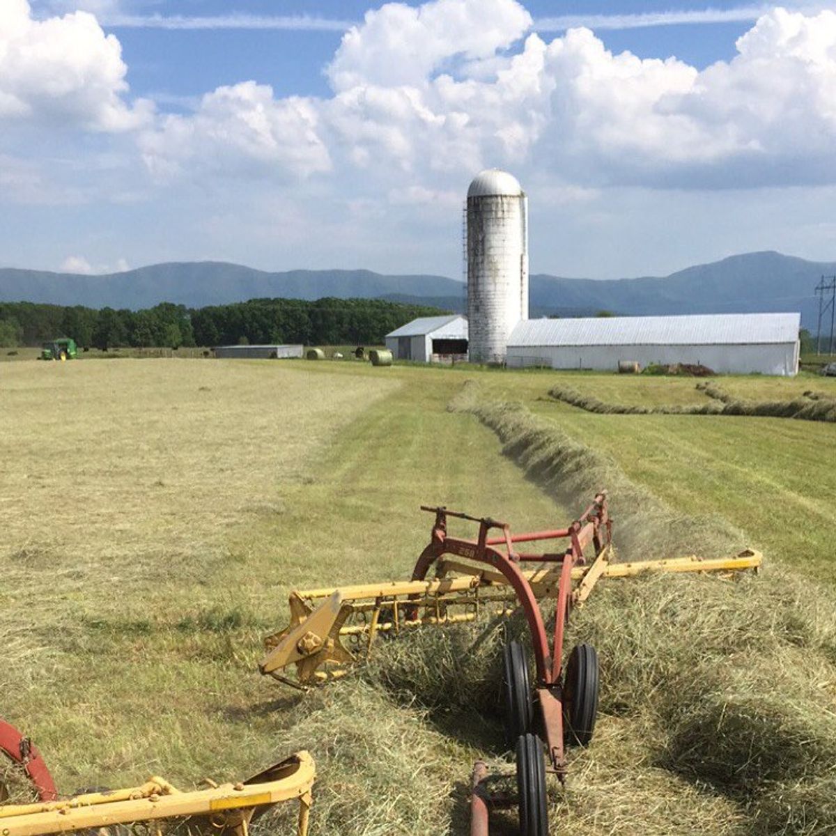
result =
[[130,106],[119,41],[94,15],[33,19],[27,0],[0,3],[0,118],[47,120],[89,130],[145,124],[151,104]]

